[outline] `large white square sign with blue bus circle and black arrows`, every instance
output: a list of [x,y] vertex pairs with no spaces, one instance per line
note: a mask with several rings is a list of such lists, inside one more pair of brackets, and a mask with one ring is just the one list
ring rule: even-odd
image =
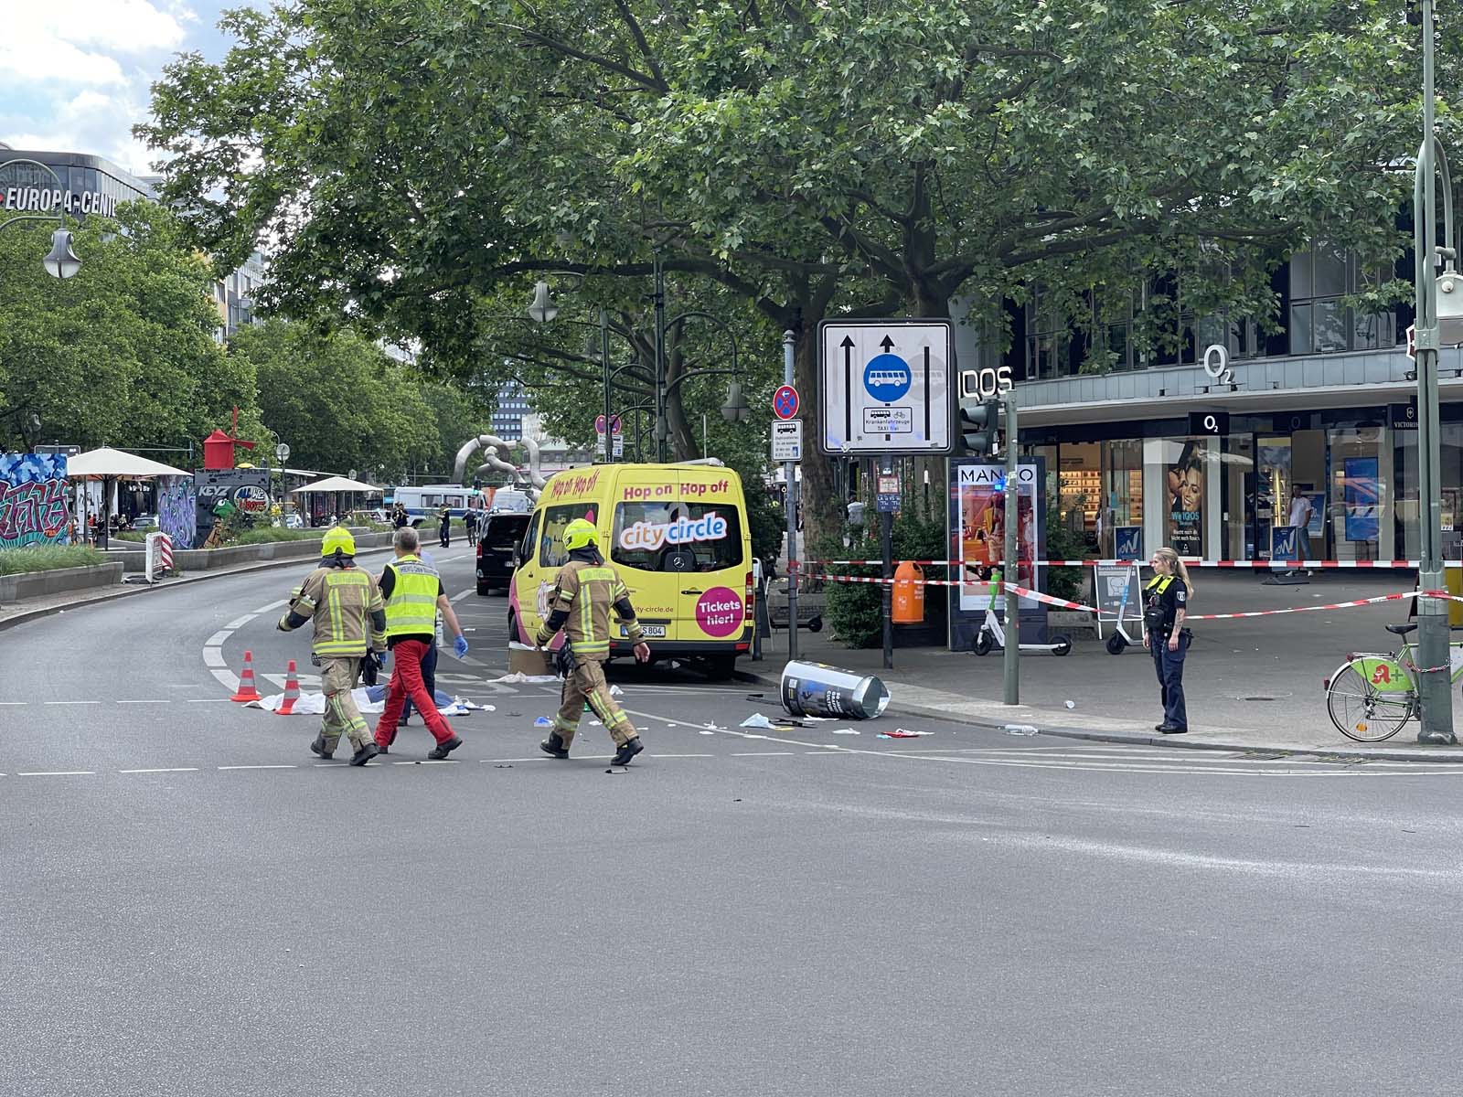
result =
[[932,456],[954,449],[949,320],[818,325],[825,453]]

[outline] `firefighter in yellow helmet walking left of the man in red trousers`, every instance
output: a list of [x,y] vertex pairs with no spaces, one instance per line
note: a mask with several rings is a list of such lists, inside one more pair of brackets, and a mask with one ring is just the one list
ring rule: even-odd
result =
[[310,663],[320,668],[325,690],[325,721],[310,749],[331,758],[345,736],[356,747],[351,765],[366,765],[379,752],[351,690],[360,682],[366,652],[386,648],[386,606],[372,573],[356,566],[356,538],[345,527],[325,534],[320,566],[290,600],[279,630],[298,629],[310,619],[315,620]]

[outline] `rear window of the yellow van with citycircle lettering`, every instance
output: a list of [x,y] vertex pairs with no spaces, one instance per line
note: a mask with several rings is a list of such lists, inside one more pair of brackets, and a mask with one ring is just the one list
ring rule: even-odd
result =
[[742,560],[742,524],[723,503],[620,503],[610,559],[642,572],[720,572]]

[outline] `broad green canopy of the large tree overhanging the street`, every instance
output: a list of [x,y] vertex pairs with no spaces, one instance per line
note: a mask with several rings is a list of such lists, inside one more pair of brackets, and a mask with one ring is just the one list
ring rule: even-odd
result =
[[[999,331],[1040,284],[1097,326],[1169,276],[1138,319],[1162,342],[1273,313],[1268,265],[1317,234],[1403,247],[1419,48],[1372,0],[301,0],[224,26],[139,127],[200,243],[268,234],[268,303],[459,373],[499,369],[550,269],[644,332],[652,255],[764,347],[791,329],[812,393],[825,316],[960,295]],[[805,484],[837,506],[827,461]]]

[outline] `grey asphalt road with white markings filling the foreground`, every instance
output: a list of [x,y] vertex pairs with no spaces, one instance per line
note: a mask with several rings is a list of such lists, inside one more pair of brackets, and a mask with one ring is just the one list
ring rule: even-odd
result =
[[1457,1091],[1463,766],[745,731],[625,668],[609,772],[445,573],[449,764],[225,699],[309,670],[290,569],[4,633],[0,1094]]

